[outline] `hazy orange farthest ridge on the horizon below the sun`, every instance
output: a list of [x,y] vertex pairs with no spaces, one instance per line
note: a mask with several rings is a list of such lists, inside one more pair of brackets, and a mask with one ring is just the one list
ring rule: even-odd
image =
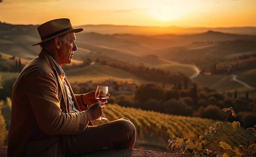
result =
[[133,34],[133,35],[162,35],[162,34],[198,34],[209,30],[240,34],[256,35],[256,27],[206,28],[206,27],[150,27],[150,26],[118,26],[118,25],[84,25],[75,28],[84,28],[84,33],[96,32],[100,34]]

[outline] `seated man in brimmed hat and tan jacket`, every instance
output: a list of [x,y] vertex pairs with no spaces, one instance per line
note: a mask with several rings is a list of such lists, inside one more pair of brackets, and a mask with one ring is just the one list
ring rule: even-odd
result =
[[[136,130],[128,118],[102,125],[90,122],[102,115],[105,102],[95,91],[76,95],[62,70],[77,50],[69,19],[48,21],[38,28],[39,56],[30,61],[13,85],[8,157],[64,157],[105,147],[132,149]],[[89,107],[89,109],[88,109]]]

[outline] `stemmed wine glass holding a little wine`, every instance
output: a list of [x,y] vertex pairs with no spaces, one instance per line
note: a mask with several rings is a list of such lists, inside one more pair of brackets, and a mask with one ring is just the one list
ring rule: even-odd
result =
[[[108,93],[108,86],[101,86],[98,85],[96,93],[95,93],[95,99],[98,100],[98,102],[105,102],[109,98]],[[107,120],[107,118],[103,118],[102,116],[96,120]]]

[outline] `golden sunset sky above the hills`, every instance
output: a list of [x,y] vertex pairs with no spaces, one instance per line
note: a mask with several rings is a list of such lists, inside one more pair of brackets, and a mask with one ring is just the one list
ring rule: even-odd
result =
[[0,21],[42,24],[69,18],[73,26],[131,25],[256,27],[256,0],[3,0]]

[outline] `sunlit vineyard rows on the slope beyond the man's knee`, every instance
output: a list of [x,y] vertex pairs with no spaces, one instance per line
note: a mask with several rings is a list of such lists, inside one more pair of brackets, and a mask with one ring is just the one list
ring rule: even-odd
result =
[[[141,143],[150,143],[148,145],[145,144],[144,149],[153,148],[153,150],[161,149],[162,151],[167,151],[166,147],[168,145],[168,139],[187,137],[193,132],[195,139],[198,140],[198,137],[204,134],[204,130],[212,126],[215,122],[215,120],[212,119],[173,116],[153,111],[125,108],[120,107],[117,104],[107,104],[103,111],[103,117],[104,116],[109,120],[127,117],[134,123],[137,132],[135,148],[141,148]],[[95,120],[94,124],[107,121]],[[243,130],[243,128],[233,130],[232,126],[226,125],[223,129],[218,131],[216,139],[226,135],[236,135]],[[239,144],[247,144],[247,139],[250,139],[251,137],[252,132],[246,130],[238,137],[226,138],[223,141],[232,146],[239,146]],[[218,144],[216,147],[219,147]]]

